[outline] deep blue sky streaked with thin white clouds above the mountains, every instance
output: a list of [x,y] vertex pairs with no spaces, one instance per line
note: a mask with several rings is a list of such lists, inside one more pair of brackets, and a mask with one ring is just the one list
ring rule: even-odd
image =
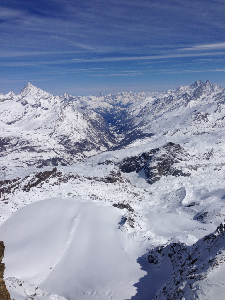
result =
[[225,0],[1,0],[0,92],[225,87]]

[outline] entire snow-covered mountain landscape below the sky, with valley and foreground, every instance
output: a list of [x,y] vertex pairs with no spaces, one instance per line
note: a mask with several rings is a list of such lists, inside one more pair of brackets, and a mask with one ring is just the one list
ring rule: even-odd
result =
[[0,94],[11,298],[222,299],[224,118],[225,89],[200,80],[166,92],[54,96],[28,83]]

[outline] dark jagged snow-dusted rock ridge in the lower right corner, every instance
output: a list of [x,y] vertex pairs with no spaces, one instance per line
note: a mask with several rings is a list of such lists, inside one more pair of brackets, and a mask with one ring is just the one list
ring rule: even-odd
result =
[[156,293],[155,299],[199,299],[198,295],[206,292],[205,282],[210,281],[211,272],[224,267],[224,244],[225,220],[213,233],[204,236],[193,246],[178,241],[152,249],[148,255],[151,264],[156,268],[164,264],[172,267],[170,279]]

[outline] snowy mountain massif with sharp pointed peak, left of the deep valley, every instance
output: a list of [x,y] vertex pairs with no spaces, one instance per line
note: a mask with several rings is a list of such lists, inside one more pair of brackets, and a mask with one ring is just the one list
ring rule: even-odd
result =
[[38,167],[68,165],[112,146],[116,140],[104,119],[73,100],[67,94],[55,97],[31,83],[18,95],[2,95],[1,158],[19,156],[25,165]]

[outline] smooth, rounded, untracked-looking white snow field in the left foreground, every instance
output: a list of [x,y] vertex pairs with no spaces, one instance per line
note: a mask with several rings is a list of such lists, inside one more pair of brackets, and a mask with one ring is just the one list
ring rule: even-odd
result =
[[135,262],[143,249],[118,230],[123,211],[77,200],[38,201],[8,218],[5,278],[74,300],[130,298],[145,272]]

